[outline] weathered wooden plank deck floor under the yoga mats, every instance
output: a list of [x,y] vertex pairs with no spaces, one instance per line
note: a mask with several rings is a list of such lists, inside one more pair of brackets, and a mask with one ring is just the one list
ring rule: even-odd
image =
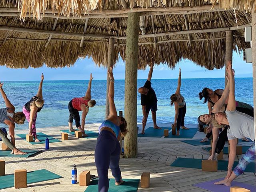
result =
[[[87,124],[86,129],[97,131],[99,125]],[[161,126],[170,126],[170,124],[161,124]],[[40,128],[37,131],[60,139],[60,130],[63,129],[68,129],[68,127]],[[27,130],[16,130],[16,134],[20,133],[27,133]],[[197,132],[193,139],[201,139],[204,135],[202,132]],[[140,178],[142,172],[150,172],[150,188],[140,188],[139,184],[138,192],[204,192],[207,190],[195,187],[193,184],[226,176],[226,171],[202,172],[199,169],[170,167],[169,165],[178,157],[208,158],[208,152],[203,150],[202,146],[192,146],[180,142],[180,140],[186,139],[138,137],[138,158],[120,159],[122,177]],[[96,138],[77,139],[69,135],[69,140],[50,143],[50,150],[46,150],[34,157],[1,158],[6,161],[6,174],[14,173],[15,169],[26,169],[27,171],[47,169],[63,178],[28,184],[28,188],[20,190],[8,188],[0,191],[84,192],[86,187],[79,186],[79,184],[71,184],[71,169],[73,164],[76,164],[78,175],[83,170],[90,170],[91,174],[97,175],[94,164],[95,144]],[[252,142],[240,143],[242,146],[250,146],[251,144]],[[24,149],[44,149],[44,144],[31,145],[17,136],[16,145],[18,148]],[[238,155],[237,160],[240,157]],[[224,159],[228,160],[228,155],[224,155]],[[109,172],[108,176],[113,178],[111,172]],[[244,173],[236,181],[256,186],[255,173]]]

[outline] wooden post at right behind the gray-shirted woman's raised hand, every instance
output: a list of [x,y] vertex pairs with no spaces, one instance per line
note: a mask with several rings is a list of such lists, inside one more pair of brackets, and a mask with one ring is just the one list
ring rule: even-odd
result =
[[[233,56],[233,34],[232,31],[226,31],[226,54],[225,54],[225,76],[228,74],[226,72],[226,66],[228,64],[228,60],[232,61]],[[225,87],[227,84],[227,80],[225,78]]]

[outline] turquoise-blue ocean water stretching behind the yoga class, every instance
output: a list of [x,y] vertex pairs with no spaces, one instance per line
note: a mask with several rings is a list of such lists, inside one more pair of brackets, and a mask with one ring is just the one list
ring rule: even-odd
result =
[[[138,88],[143,86],[146,80],[138,80]],[[152,88],[158,98],[158,123],[170,123],[174,120],[174,106],[170,106],[170,95],[175,93],[177,79],[154,79]],[[236,78],[236,100],[247,102],[253,106],[252,78]],[[4,91],[16,107],[16,112],[22,110],[22,106],[37,93],[39,81],[4,82]],[[88,80],[77,81],[44,81],[43,96],[44,108],[38,113],[36,127],[68,126],[68,102],[74,97],[84,96]],[[207,104],[199,100],[198,93],[204,87],[213,90],[224,88],[224,78],[183,79],[181,94],[187,105],[185,123],[196,123],[200,114],[207,114]],[[96,106],[90,108],[86,117],[86,123],[100,123],[105,117],[106,80],[92,81],[92,99],[96,100]],[[138,123],[142,121],[142,108],[140,106],[140,94],[138,100]],[[115,81],[116,109],[124,111],[124,80]],[[4,100],[0,97],[0,108],[4,108]],[[152,122],[151,116],[148,122]],[[2,125],[0,125],[2,126]],[[75,127],[75,125],[74,125]],[[16,129],[28,128],[28,122],[16,125]]]

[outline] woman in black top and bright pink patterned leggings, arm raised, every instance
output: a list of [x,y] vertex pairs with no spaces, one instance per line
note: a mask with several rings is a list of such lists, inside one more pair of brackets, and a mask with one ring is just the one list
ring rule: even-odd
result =
[[44,74],[41,75],[41,81],[38,87],[38,92],[33,96],[24,106],[23,113],[28,120],[28,134],[33,135],[35,142],[40,142],[36,136],[36,118],[37,113],[40,112],[44,106],[42,86],[44,81]]

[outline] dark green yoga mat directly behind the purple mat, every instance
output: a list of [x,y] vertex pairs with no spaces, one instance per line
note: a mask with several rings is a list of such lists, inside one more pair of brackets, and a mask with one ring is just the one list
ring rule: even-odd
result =
[[[238,161],[234,162],[233,169],[238,164]],[[191,159],[191,158],[178,158],[172,164],[171,167],[185,167],[185,168],[196,168],[202,169],[202,159]],[[227,171],[228,161],[218,160],[218,170]],[[250,163],[245,169],[245,172],[255,172],[255,163]]]

